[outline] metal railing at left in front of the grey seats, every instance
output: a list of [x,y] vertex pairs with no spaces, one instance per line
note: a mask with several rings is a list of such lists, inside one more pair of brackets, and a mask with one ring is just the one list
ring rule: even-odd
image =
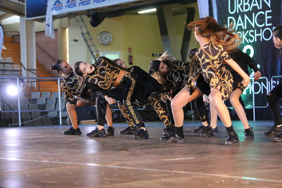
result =
[[[18,110],[14,111],[3,111],[1,109],[1,97],[0,97],[0,112],[18,112],[18,124],[21,126],[21,112],[59,112],[59,118],[60,118],[60,125],[62,124],[62,115],[61,111],[61,96],[60,96],[60,80],[63,80],[63,78],[40,78],[40,77],[16,77],[17,78],[17,89],[18,89]],[[0,79],[10,79],[8,76],[2,76]],[[59,101],[59,110],[21,110],[20,108],[20,87],[19,87],[19,79],[50,79],[50,80],[58,80],[58,101]]]

